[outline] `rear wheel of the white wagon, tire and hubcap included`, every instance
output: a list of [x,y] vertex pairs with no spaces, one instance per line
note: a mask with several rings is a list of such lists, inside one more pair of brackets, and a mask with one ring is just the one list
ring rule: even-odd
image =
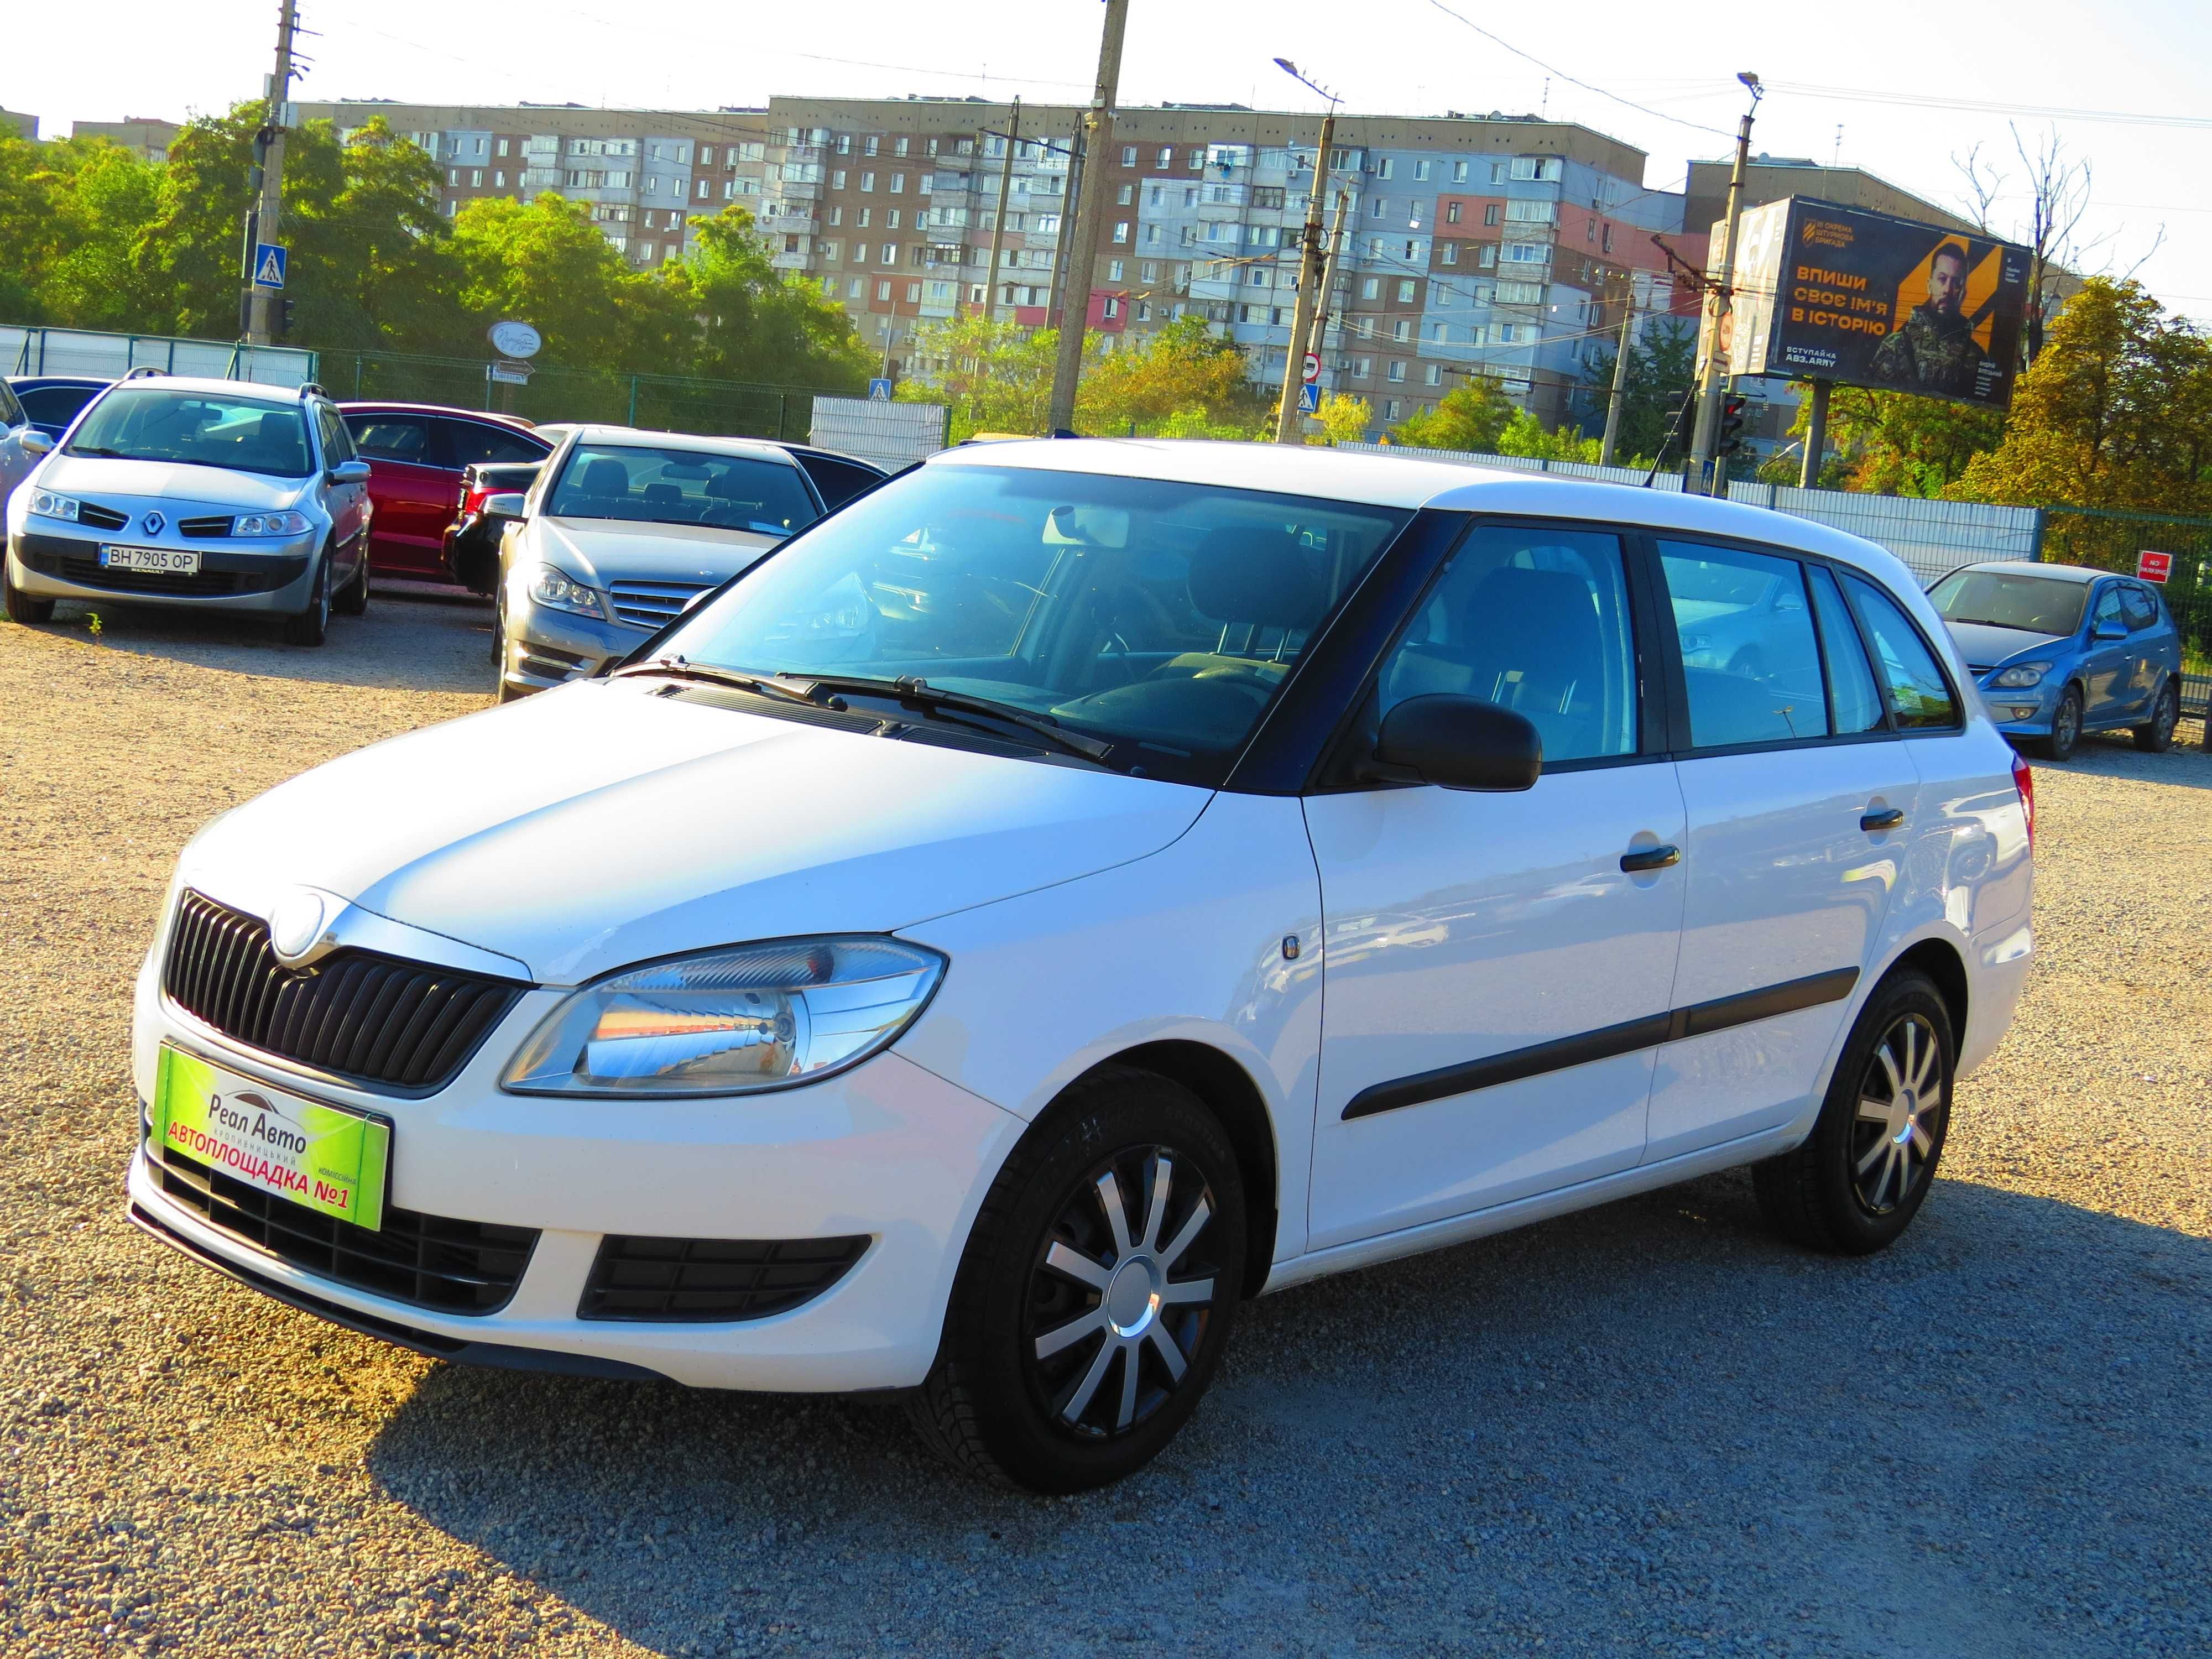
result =
[[1891,973],[1851,1026],[1812,1135],[1752,1166],[1767,1223],[1838,1256],[1896,1243],[1936,1183],[1955,1071],[1936,982],[1913,969]]

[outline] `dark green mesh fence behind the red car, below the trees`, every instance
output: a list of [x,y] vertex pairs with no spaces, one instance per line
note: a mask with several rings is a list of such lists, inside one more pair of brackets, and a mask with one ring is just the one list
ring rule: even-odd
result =
[[323,352],[321,363],[323,385],[347,403],[442,403],[538,422],[597,420],[650,431],[792,442],[805,442],[814,420],[816,394],[805,387],[562,367],[538,367],[526,385],[504,385],[491,380],[489,369],[482,358],[405,352]]

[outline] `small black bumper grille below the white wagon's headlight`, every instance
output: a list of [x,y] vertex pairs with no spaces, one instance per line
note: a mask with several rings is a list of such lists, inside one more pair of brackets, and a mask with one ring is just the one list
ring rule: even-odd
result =
[[637,1239],[608,1234],[577,1318],[739,1321],[814,1301],[867,1250],[849,1239]]

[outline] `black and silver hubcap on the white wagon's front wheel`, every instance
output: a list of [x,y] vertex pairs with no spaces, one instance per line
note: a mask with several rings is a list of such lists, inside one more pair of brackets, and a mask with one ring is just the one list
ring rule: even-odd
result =
[[1062,1429],[1126,1433],[1181,1387],[1212,1316],[1212,1214],[1206,1177],[1166,1146],[1121,1152],[1068,1194],[1031,1270],[1022,1338]]

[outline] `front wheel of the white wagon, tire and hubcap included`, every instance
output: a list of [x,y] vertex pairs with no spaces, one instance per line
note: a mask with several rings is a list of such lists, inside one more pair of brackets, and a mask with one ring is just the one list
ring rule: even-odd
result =
[[1148,1071],[1095,1071],[991,1183],[938,1360],[909,1398],[914,1427],[956,1469],[1002,1486],[1121,1480],[1212,1383],[1243,1263],[1243,1183],[1214,1115]]

